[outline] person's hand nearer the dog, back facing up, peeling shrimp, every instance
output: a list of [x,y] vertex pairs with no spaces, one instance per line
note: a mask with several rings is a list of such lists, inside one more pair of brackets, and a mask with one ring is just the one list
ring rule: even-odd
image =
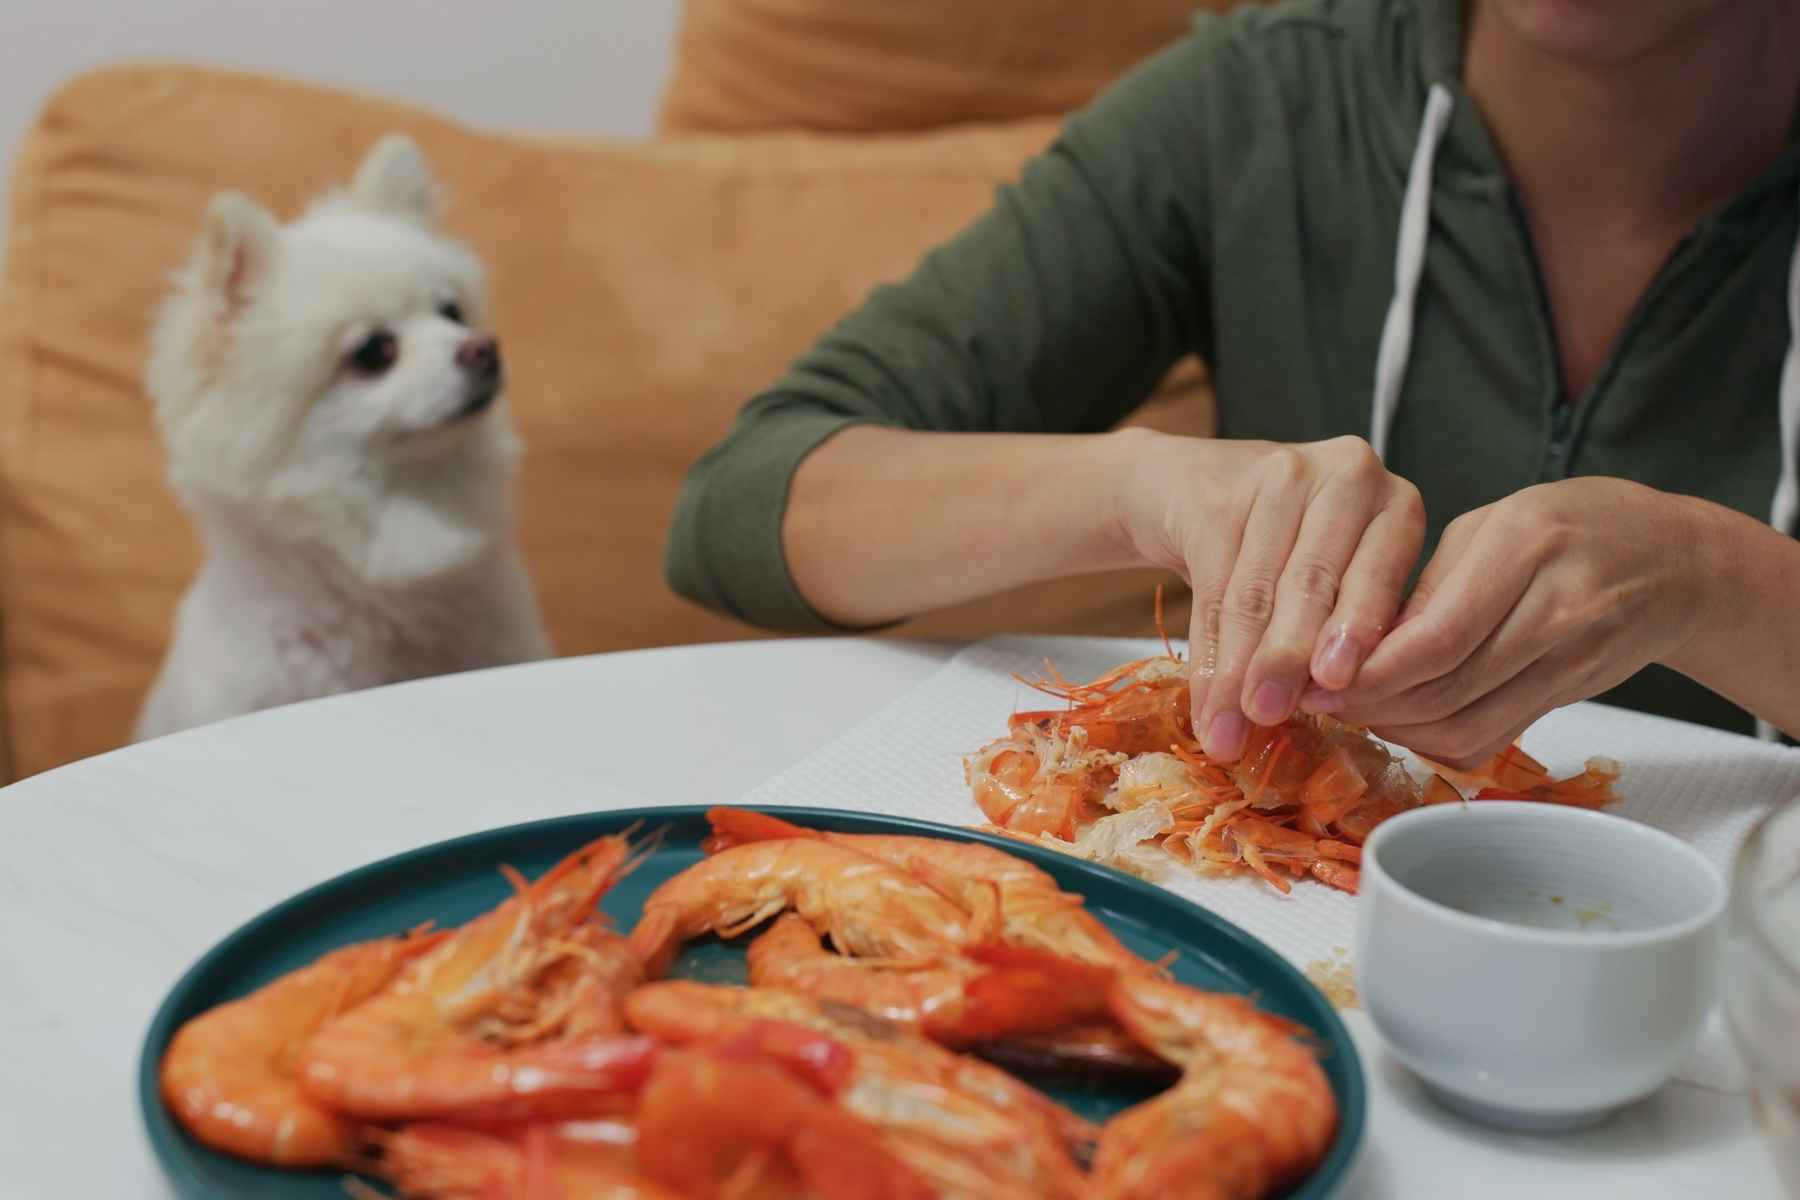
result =
[[1193,588],[1193,732],[1235,761],[1247,721],[1339,691],[1391,626],[1424,545],[1418,489],[1361,437],[1274,444],[1121,432],[1136,552]]

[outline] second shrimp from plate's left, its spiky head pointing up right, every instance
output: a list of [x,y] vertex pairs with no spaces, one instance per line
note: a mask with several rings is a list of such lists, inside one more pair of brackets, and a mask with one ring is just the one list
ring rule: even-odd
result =
[[634,860],[599,838],[414,959],[301,1051],[306,1094],[367,1121],[524,1121],[619,1106],[655,1047],[619,1033],[641,977],[596,903]]

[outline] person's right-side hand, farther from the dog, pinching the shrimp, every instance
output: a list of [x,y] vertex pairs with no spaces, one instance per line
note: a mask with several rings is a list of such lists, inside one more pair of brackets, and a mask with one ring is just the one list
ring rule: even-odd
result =
[[1465,513],[1352,685],[1301,709],[1472,766],[1679,651],[1708,608],[1708,525],[1687,497],[1600,477]]

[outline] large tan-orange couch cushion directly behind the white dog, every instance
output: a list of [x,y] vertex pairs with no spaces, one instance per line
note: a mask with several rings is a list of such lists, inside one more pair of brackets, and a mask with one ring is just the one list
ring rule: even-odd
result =
[[[526,556],[562,653],[756,635],[662,583],[688,464],[877,281],[979,212],[1042,122],[907,139],[572,144],[266,77],[126,67],[45,108],[0,293],[0,682],[16,774],[119,745],[198,561],[140,389],[207,198],[292,214],[389,130],[486,261],[526,441]],[[1202,428],[1204,387],[1147,419]],[[1159,414],[1159,416],[1157,416]],[[1141,578],[943,613],[934,633],[1141,628]]]

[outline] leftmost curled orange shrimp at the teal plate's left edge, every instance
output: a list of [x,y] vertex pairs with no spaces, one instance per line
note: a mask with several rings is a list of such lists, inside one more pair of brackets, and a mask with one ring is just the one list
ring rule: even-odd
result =
[[162,1099],[214,1150],[275,1166],[331,1166],[358,1148],[356,1126],[310,1101],[295,1078],[301,1043],[380,991],[443,934],[344,946],[184,1024],[162,1056]]

